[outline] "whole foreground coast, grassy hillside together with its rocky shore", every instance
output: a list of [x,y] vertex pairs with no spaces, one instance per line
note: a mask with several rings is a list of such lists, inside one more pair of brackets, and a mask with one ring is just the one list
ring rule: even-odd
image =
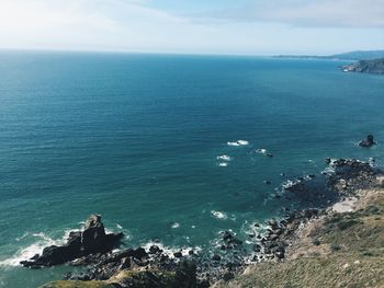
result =
[[[337,199],[328,201],[324,209],[295,210],[283,219],[270,219],[269,228],[255,235],[260,241],[253,245],[252,263],[236,265],[223,262],[217,254],[210,261],[182,254],[169,258],[157,246],[148,251],[138,247],[97,253],[105,246],[104,241],[110,243],[108,239],[117,234],[108,234],[102,240],[101,218],[91,216],[86,230],[71,232],[67,244],[46,247],[42,255],[21,264],[43,268],[66,262],[88,267],[88,272],[67,274],[65,280],[42,288],[384,287],[383,173],[359,160],[326,159],[326,162],[334,171],[328,172],[324,189],[328,187]],[[296,183],[286,193],[317,194],[308,188]],[[325,196],[320,194],[321,198]],[[78,238],[93,240],[79,242]],[[228,255],[241,246],[241,241],[230,232],[223,238],[231,246],[224,247]],[[103,243],[95,245],[101,240]],[[97,250],[84,253],[90,247]],[[68,251],[76,253],[69,257]],[[219,262],[222,266],[216,265]]]

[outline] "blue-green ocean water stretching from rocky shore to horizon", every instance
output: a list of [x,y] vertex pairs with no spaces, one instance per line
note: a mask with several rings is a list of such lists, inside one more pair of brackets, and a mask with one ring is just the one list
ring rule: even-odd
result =
[[59,279],[68,267],[15,264],[91,212],[126,245],[210,250],[221,230],[241,238],[286,205],[271,197],[280,173],[318,173],[326,157],[382,164],[382,145],[355,143],[384,141],[384,78],[340,65],[0,53],[0,287]]

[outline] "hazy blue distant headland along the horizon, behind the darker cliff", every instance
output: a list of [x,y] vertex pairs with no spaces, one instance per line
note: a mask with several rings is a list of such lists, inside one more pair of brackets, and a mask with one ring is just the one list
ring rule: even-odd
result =
[[350,53],[335,54],[329,56],[279,55],[275,57],[295,58],[295,59],[371,60],[371,59],[384,58],[384,50],[350,51]]

